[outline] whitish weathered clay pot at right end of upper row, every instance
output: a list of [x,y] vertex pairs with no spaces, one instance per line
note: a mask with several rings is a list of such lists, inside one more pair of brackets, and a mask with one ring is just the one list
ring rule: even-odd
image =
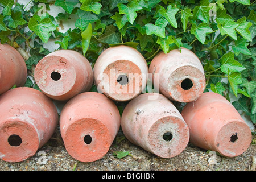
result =
[[186,48],[181,48],[181,53],[179,49],[167,54],[160,52],[151,61],[149,72],[153,82],[158,76],[159,92],[171,100],[191,102],[204,92],[203,66],[195,53]]

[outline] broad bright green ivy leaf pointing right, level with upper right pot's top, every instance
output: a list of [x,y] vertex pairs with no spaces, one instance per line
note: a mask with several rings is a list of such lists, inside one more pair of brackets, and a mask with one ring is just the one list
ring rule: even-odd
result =
[[221,58],[221,71],[229,74],[231,72],[241,72],[245,67],[234,59],[234,53],[229,52],[222,56]]

